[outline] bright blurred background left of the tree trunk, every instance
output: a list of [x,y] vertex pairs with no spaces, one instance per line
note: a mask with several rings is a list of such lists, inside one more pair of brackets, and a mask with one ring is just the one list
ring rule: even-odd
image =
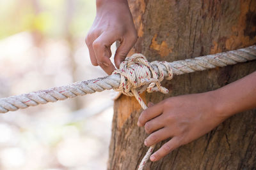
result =
[[[84,43],[95,12],[92,0],[1,0],[0,97],[106,76]],[[109,93],[1,114],[0,169],[106,169]]]

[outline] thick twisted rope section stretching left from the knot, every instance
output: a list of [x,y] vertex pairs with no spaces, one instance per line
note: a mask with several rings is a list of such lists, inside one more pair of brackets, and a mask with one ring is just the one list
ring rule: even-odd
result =
[[65,100],[76,96],[84,96],[94,92],[102,92],[103,90],[118,87],[119,83],[120,75],[115,74],[95,80],[77,81],[76,83],[62,87],[54,87],[48,90],[40,90],[38,92],[3,98],[0,99],[0,113]]

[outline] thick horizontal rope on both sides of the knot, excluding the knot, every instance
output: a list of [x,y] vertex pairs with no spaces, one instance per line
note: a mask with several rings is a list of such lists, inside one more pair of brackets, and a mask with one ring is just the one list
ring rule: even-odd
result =
[[[224,67],[238,62],[246,62],[255,59],[256,46],[253,45],[248,48],[216,53],[214,55],[205,55],[196,57],[195,59],[167,62],[167,64],[172,68],[173,74],[179,75],[192,73],[194,71],[203,71],[205,69],[213,69],[215,67]],[[163,65],[164,77],[170,76],[168,75],[168,70],[166,70],[166,67],[164,66],[164,62],[159,62],[159,64]],[[156,65],[152,64],[152,68],[159,74]],[[40,90],[38,92],[2,98],[0,99],[0,113],[24,109],[29,106],[37,106],[38,104],[65,100],[76,96],[84,96],[94,92],[102,92],[103,90],[118,89],[120,80],[120,74],[112,74],[95,80],[78,81],[62,87],[54,87],[48,90]]]

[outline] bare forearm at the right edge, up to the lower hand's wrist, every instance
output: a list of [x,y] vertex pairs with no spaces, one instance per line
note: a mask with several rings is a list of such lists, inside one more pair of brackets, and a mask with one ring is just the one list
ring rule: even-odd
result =
[[212,93],[223,117],[256,108],[256,71]]

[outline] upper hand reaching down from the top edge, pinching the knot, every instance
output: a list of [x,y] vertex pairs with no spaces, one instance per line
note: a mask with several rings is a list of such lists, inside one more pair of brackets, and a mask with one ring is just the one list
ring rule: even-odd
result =
[[120,41],[115,53],[115,65],[119,68],[136,40],[137,32],[127,0],[97,0],[97,15],[86,36],[93,66],[100,66],[111,74],[115,66],[109,59],[110,46]]

